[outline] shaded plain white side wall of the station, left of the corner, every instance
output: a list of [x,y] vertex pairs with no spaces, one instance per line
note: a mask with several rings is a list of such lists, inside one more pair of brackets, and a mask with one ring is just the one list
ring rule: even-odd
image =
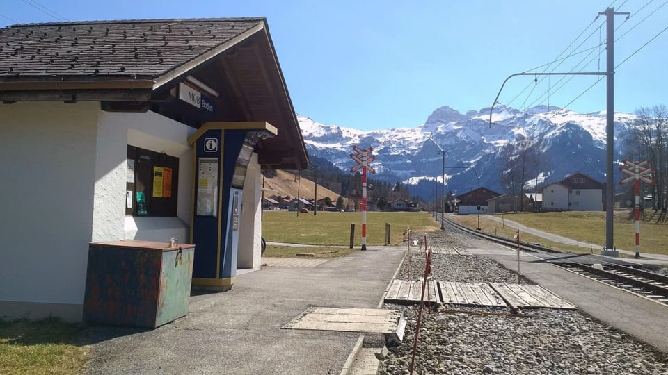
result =
[[54,304],[66,317],[81,311],[99,108],[0,103],[0,316],[33,313],[26,303]]

